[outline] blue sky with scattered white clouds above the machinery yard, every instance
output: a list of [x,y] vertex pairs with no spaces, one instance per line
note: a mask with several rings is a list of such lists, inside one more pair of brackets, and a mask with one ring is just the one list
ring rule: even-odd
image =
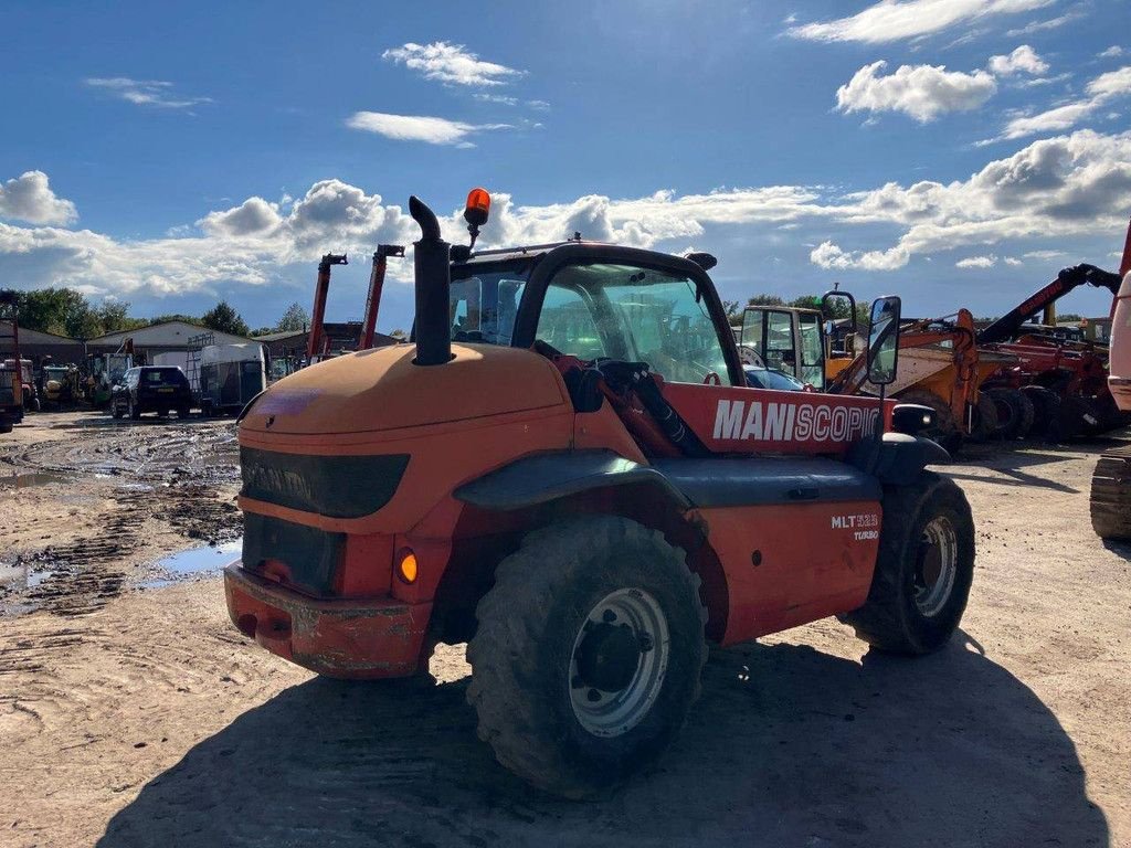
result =
[[360,317],[408,194],[460,240],[481,184],[484,242],[709,250],[725,297],[914,314],[1113,268],[1131,215],[1125,0],[8,0],[0,28],[0,285],[138,314],[270,325],[347,250],[329,317]]

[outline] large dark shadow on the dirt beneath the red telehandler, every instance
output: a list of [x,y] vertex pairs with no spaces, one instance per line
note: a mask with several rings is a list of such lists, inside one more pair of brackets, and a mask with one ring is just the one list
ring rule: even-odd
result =
[[703,684],[656,767],[572,804],[495,764],[466,681],[314,680],[190,750],[98,845],[1107,845],[1072,741],[975,644],[862,664],[744,646]]

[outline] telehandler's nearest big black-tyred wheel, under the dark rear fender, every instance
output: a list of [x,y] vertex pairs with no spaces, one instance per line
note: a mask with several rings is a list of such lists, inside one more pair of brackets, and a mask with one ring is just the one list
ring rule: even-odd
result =
[[480,738],[535,786],[590,796],[657,756],[699,696],[699,578],[634,521],[535,530],[500,563],[467,648]]

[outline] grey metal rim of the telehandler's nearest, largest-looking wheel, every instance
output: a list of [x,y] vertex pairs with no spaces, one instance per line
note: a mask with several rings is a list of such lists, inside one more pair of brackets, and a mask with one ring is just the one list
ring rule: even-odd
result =
[[618,589],[578,630],[569,695],[578,724],[594,736],[620,736],[648,715],[664,684],[671,638],[667,616],[642,589]]

